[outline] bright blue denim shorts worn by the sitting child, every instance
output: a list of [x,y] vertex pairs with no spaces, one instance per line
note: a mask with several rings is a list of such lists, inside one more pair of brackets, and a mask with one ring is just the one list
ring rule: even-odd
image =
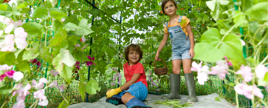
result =
[[141,81],[131,85],[128,90],[123,90],[117,95],[120,95],[122,97],[122,95],[124,95],[126,92],[131,93],[131,95],[133,95],[140,101],[144,101],[148,95],[148,89],[144,84],[142,84]]

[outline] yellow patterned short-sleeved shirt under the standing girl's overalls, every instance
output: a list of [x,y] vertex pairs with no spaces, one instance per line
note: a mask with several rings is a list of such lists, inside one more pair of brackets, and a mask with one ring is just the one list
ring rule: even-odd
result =
[[[179,16],[179,17],[180,17],[180,16]],[[179,20],[179,17],[178,17],[178,20]],[[173,25],[170,25],[170,21],[169,21],[169,22],[168,22],[168,23],[169,23],[168,27],[166,27],[166,24],[164,25],[164,26],[165,26],[165,28],[164,28],[164,32],[167,33],[167,34],[169,34],[169,32],[168,32],[168,28],[169,28],[169,27],[173,27],[173,26],[178,26],[178,25],[180,25],[180,26],[181,26],[181,29],[183,30],[183,32],[186,34],[186,36],[188,36],[187,30],[186,30],[186,26],[187,26],[187,24],[190,22],[190,20],[189,20],[186,16],[182,16],[182,19],[186,20],[186,23],[183,24],[183,25],[180,25],[180,23],[175,23],[175,24],[173,24]],[[177,22],[178,22],[178,20],[177,20]]]

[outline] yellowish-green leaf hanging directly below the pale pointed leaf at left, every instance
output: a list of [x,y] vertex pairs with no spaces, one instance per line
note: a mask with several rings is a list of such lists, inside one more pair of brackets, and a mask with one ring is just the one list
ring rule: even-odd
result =
[[59,75],[67,82],[68,85],[71,83],[72,70],[72,67],[64,65],[63,71],[59,72]]

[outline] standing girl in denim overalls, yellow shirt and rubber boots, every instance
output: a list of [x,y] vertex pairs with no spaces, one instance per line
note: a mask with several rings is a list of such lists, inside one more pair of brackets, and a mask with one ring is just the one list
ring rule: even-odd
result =
[[163,0],[161,5],[162,11],[169,16],[170,20],[165,24],[164,37],[155,55],[155,60],[159,60],[159,53],[166,45],[168,38],[172,41],[172,66],[173,74],[170,73],[170,88],[169,95],[163,95],[163,99],[179,99],[180,90],[180,66],[183,62],[183,70],[185,75],[185,83],[189,93],[186,100],[188,103],[197,102],[195,96],[195,82],[193,73],[191,73],[191,60],[194,56],[194,37],[191,31],[190,20],[186,16],[176,14],[177,5],[174,0]]

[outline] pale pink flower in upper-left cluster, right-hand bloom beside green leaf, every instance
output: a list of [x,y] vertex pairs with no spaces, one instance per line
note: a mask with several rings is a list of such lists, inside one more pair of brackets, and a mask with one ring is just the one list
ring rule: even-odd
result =
[[24,49],[27,47],[28,43],[26,41],[27,33],[24,32],[22,27],[18,27],[14,30],[15,43],[18,49]]

